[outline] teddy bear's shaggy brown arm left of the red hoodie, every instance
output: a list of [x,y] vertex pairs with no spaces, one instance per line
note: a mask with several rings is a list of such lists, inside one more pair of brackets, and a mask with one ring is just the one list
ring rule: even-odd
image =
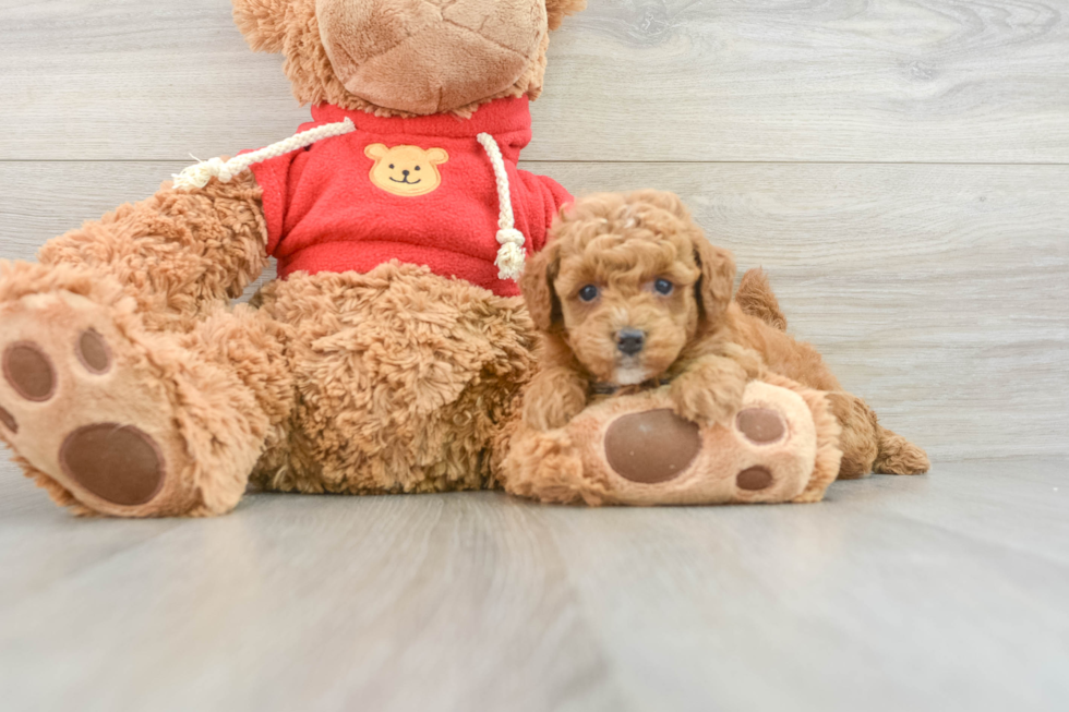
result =
[[117,279],[160,326],[239,297],[267,264],[262,191],[251,172],[194,190],[169,182],[146,201],[47,242],[45,265],[87,267]]

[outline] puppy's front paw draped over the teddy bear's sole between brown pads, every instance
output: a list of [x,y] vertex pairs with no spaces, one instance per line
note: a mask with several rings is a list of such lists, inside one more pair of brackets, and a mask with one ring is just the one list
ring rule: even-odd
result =
[[699,361],[672,382],[675,412],[699,425],[726,422],[743,402],[746,371],[729,359]]

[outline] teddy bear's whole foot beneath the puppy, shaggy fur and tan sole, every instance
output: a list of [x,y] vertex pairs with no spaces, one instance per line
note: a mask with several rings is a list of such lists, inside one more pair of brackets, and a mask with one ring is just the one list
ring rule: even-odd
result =
[[708,427],[663,391],[623,397],[517,437],[506,488],[587,504],[809,502],[834,479],[837,435],[819,394],[802,388],[750,383],[730,423]]

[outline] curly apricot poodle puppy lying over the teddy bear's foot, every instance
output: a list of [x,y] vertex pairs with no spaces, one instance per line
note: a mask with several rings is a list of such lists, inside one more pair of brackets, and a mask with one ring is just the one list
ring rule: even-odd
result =
[[671,193],[578,201],[553,227],[521,283],[542,331],[541,366],[524,400],[536,430],[562,427],[599,396],[668,385],[676,412],[725,422],[750,379],[776,373],[828,391],[842,425],[840,478],[926,472],[924,451],[845,393],[786,319],[762,271],[744,275]]

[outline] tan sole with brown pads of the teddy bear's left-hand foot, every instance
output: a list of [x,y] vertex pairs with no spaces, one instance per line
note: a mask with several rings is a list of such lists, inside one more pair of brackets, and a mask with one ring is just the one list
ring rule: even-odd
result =
[[183,444],[151,350],[111,309],[64,291],[0,309],[0,435],[84,507],[154,516],[187,498]]

